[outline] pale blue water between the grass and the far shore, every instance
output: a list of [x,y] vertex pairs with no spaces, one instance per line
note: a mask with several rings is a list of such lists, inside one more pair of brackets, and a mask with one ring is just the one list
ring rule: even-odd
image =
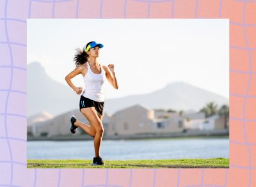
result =
[[[31,141],[28,159],[85,159],[95,155],[93,140]],[[157,160],[181,158],[228,158],[228,138],[185,138],[157,140],[103,140],[104,160]]]

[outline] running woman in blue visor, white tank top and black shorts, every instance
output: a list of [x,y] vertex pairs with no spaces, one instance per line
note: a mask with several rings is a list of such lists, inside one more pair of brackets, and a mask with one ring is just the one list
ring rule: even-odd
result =
[[115,89],[118,89],[114,65],[108,64],[108,66],[104,66],[98,62],[102,47],[101,43],[91,41],[84,46],[83,50],[77,49],[77,54],[74,57],[76,69],[65,77],[68,85],[77,94],[81,94],[82,87],[74,86],[71,79],[76,75],[83,75],[85,89],[81,95],[79,107],[80,112],[88,119],[90,125],[81,123],[76,117],[72,116],[70,119],[70,131],[76,133],[76,129],[79,127],[94,138],[95,157],[93,158],[93,165],[104,165],[102,158],[100,158],[100,144],[104,133],[102,125],[104,108],[102,86],[107,79]]

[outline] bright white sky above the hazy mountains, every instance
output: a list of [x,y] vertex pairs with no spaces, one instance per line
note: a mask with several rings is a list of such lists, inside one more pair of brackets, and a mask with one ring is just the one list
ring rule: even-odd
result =
[[[104,45],[99,63],[115,64],[119,84],[116,90],[106,82],[106,98],[150,93],[172,82],[229,98],[228,19],[28,19],[27,26],[28,64],[41,63],[61,84],[76,68],[76,49],[97,41]],[[84,87],[82,75],[72,82]]]

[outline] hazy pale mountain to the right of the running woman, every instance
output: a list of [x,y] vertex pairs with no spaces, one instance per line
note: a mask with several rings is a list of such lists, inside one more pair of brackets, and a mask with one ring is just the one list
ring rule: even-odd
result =
[[223,96],[184,82],[173,82],[152,93],[107,100],[106,108],[110,114],[136,104],[154,109],[198,111],[209,101],[214,101],[219,106],[228,104],[228,99]]

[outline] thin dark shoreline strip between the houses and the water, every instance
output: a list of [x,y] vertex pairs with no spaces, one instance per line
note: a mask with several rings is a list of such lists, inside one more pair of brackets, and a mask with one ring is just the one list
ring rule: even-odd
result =
[[[143,140],[143,139],[159,139],[159,138],[228,138],[229,133],[222,131],[191,131],[188,133],[166,133],[166,134],[138,134],[138,135],[104,135],[103,140]],[[83,135],[63,135],[56,137],[28,137],[28,141],[77,141],[77,140],[93,140],[92,137]]]

